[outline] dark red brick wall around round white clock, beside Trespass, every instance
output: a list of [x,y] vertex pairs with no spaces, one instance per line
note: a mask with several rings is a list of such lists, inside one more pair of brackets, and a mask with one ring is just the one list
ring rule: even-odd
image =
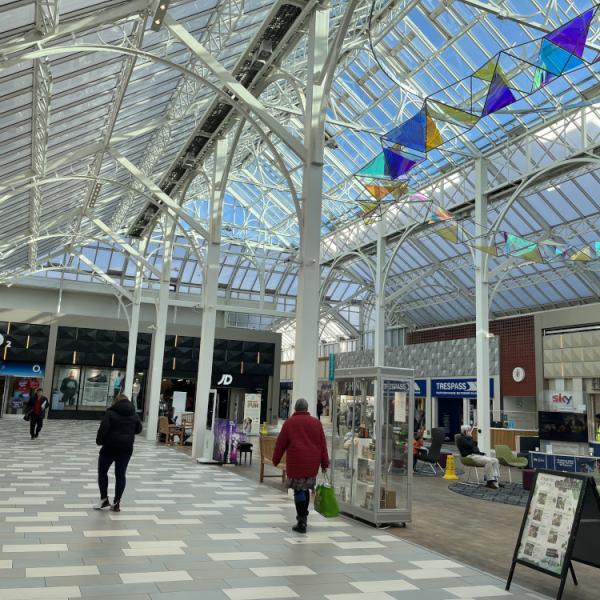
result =
[[[535,396],[535,340],[533,317],[501,319],[490,323],[490,332],[500,338],[500,388],[503,396]],[[407,344],[475,337],[475,325],[457,325],[440,329],[413,331]],[[525,379],[513,381],[515,367],[525,369]]]

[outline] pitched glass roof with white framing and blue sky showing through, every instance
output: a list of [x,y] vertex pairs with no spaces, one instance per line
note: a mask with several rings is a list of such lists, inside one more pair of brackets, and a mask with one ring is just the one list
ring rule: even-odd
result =
[[[164,184],[190,140],[206,127],[219,81],[166,27],[150,29],[154,3],[149,0],[63,0],[58,15],[41,14],[39,4],[0,0],[0,281],[36,275],[49,282],[98,282],[91,261],[116,284],[130,288],[135,264],[122,244],[132,241],[128,232],[151,194],[115,160],[115,152],[155,184]],[[238,73],[281,4],[175,0],[168,14]],[[306,11],[310,4],[299,2]],[[331,2],[332,40],[348,4]],[[447,88],[449,97],[463,97],[464,78],[500,50],[538,38],[592,6],[587,0],[356,3],[326,115],[324,340],[355,337],[360,327],[372,327],[370,263],[377,225],[360,218],[359,202],[368,195],[353,174],[381,152],[381,136],[416,114],[429,95]],[[275,49],[280,52],[277,61],[256,88],[267,111],[299,139],[304,130],[307,15],[294,25],[294,43]],[[599,36],[595,22],[586,51],[600,51]],[[35,60],[22,58],[42,38],[44,48],[62,50]],[[76,48],[82,45],[85,51]],[[524,73],[517,70],[511,77],[520,81]],[[574,70],[486,116],[430,151],[411,172],[411,187],[453,211],[464,231],[473,234],[473,164],[484,156],[491,226],[524,174],[584,152],[589,156],[600,144],[598,84],[598,68]],[[252,123],[239,119],[228,123],[234,155],[223,206],[219,294],[228,302],[268,307],[255,326],[279,328],[286,335],[291,331],[292,344],[300,231],[290,184],[300,196],[302,165],[274,134],[259,135]],[[446,127],[452,133],[454,126]],[[210,153],[196,168],[182,206],[206,228]],[[598,165],[592,162],[553,168],[519,195],[501,229],[569,245],[599,240],[598,177]],[[96,181],[100,187],[95,190]],[[416,226],[426,220],[423,210],[400,202],[384,216],[391,260],[386,289],[393,297],[390,326],[474,318],[471,249],[440,237],[439,226]],[[414,233],[396,251],[400,235],[413,225]],[[160,268],[159,227],[151,238],[148,260]],[[180,221],[171,269],[178,297],[200,298],[204,251],[204,239]],[[535,264],[491,257],[490,269],[493,316],[597,301],[600,292],[597,260]],[[146,275],[144,285],[155,288],[156,275]],[[344,316],[348,310],[351,318]]]

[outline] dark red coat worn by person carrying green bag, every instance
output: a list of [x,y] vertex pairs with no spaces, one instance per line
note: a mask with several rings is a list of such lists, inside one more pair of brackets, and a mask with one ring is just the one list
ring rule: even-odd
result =
[[293,479],[316,477],[319,467],[329,467],[323,426],[308,411],[296,411],[283,424],[273,452],[275,466],[284,453],[287,475]]

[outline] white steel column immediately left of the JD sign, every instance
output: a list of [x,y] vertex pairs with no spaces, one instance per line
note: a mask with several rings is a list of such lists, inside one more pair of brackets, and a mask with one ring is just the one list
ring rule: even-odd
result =
[[[233,151],[233,150],[232,150]],[[192,457],[204,454],[206,443],[206,419],[211,387],[215,326],[217,319],[217,290],[221,254],[221,217],[223,193],[227,182],[227,140],[219,139],[215,148],[214,172],[210,195],[210,227],[204,265],[204,286],[202,290],[202,331],[200,332],[200,356],[198,359],[198,379],[196,382],[196,406],[194,432],[192,434]],[[213,411],[216,410],[216,399]],[[210,450],[210,449],[207,449]],[[210,458],[210,456],[204,456]]]

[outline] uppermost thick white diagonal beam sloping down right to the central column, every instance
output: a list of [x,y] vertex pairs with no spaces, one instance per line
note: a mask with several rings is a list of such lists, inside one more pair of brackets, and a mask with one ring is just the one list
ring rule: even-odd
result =
[[262,102],[253,96],[212,54],[176,19],[167,15],[164,21],[167,29],[185,44],[217,78],[221,87],[229,89],[237,99],[272,131],[296,156],[303,158],[304,147],[300,140],[281,125],[264,107]]

